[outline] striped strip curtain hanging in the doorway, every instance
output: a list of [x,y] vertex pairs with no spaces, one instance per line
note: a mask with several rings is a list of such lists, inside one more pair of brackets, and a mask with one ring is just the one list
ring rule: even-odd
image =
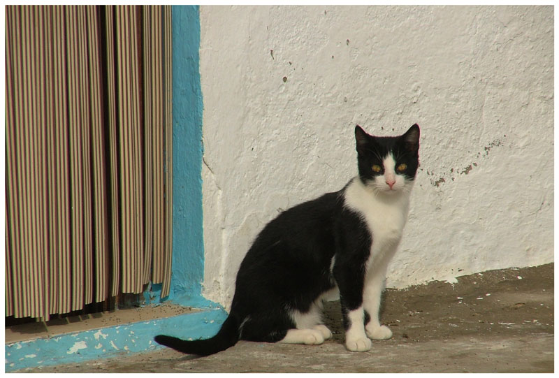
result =
[[6,316],[168,295],[170,30],[170,6],[6,6]]

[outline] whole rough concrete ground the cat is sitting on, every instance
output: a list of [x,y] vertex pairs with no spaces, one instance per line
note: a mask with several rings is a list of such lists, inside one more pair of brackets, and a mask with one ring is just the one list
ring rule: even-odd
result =
[[196,358],[157,349],[20,372],[553,372],[553,264],[493,270],[387,290],[391,340],[344,348],[339,303],[326,306],[334,337],[303,346],[238,342]]

